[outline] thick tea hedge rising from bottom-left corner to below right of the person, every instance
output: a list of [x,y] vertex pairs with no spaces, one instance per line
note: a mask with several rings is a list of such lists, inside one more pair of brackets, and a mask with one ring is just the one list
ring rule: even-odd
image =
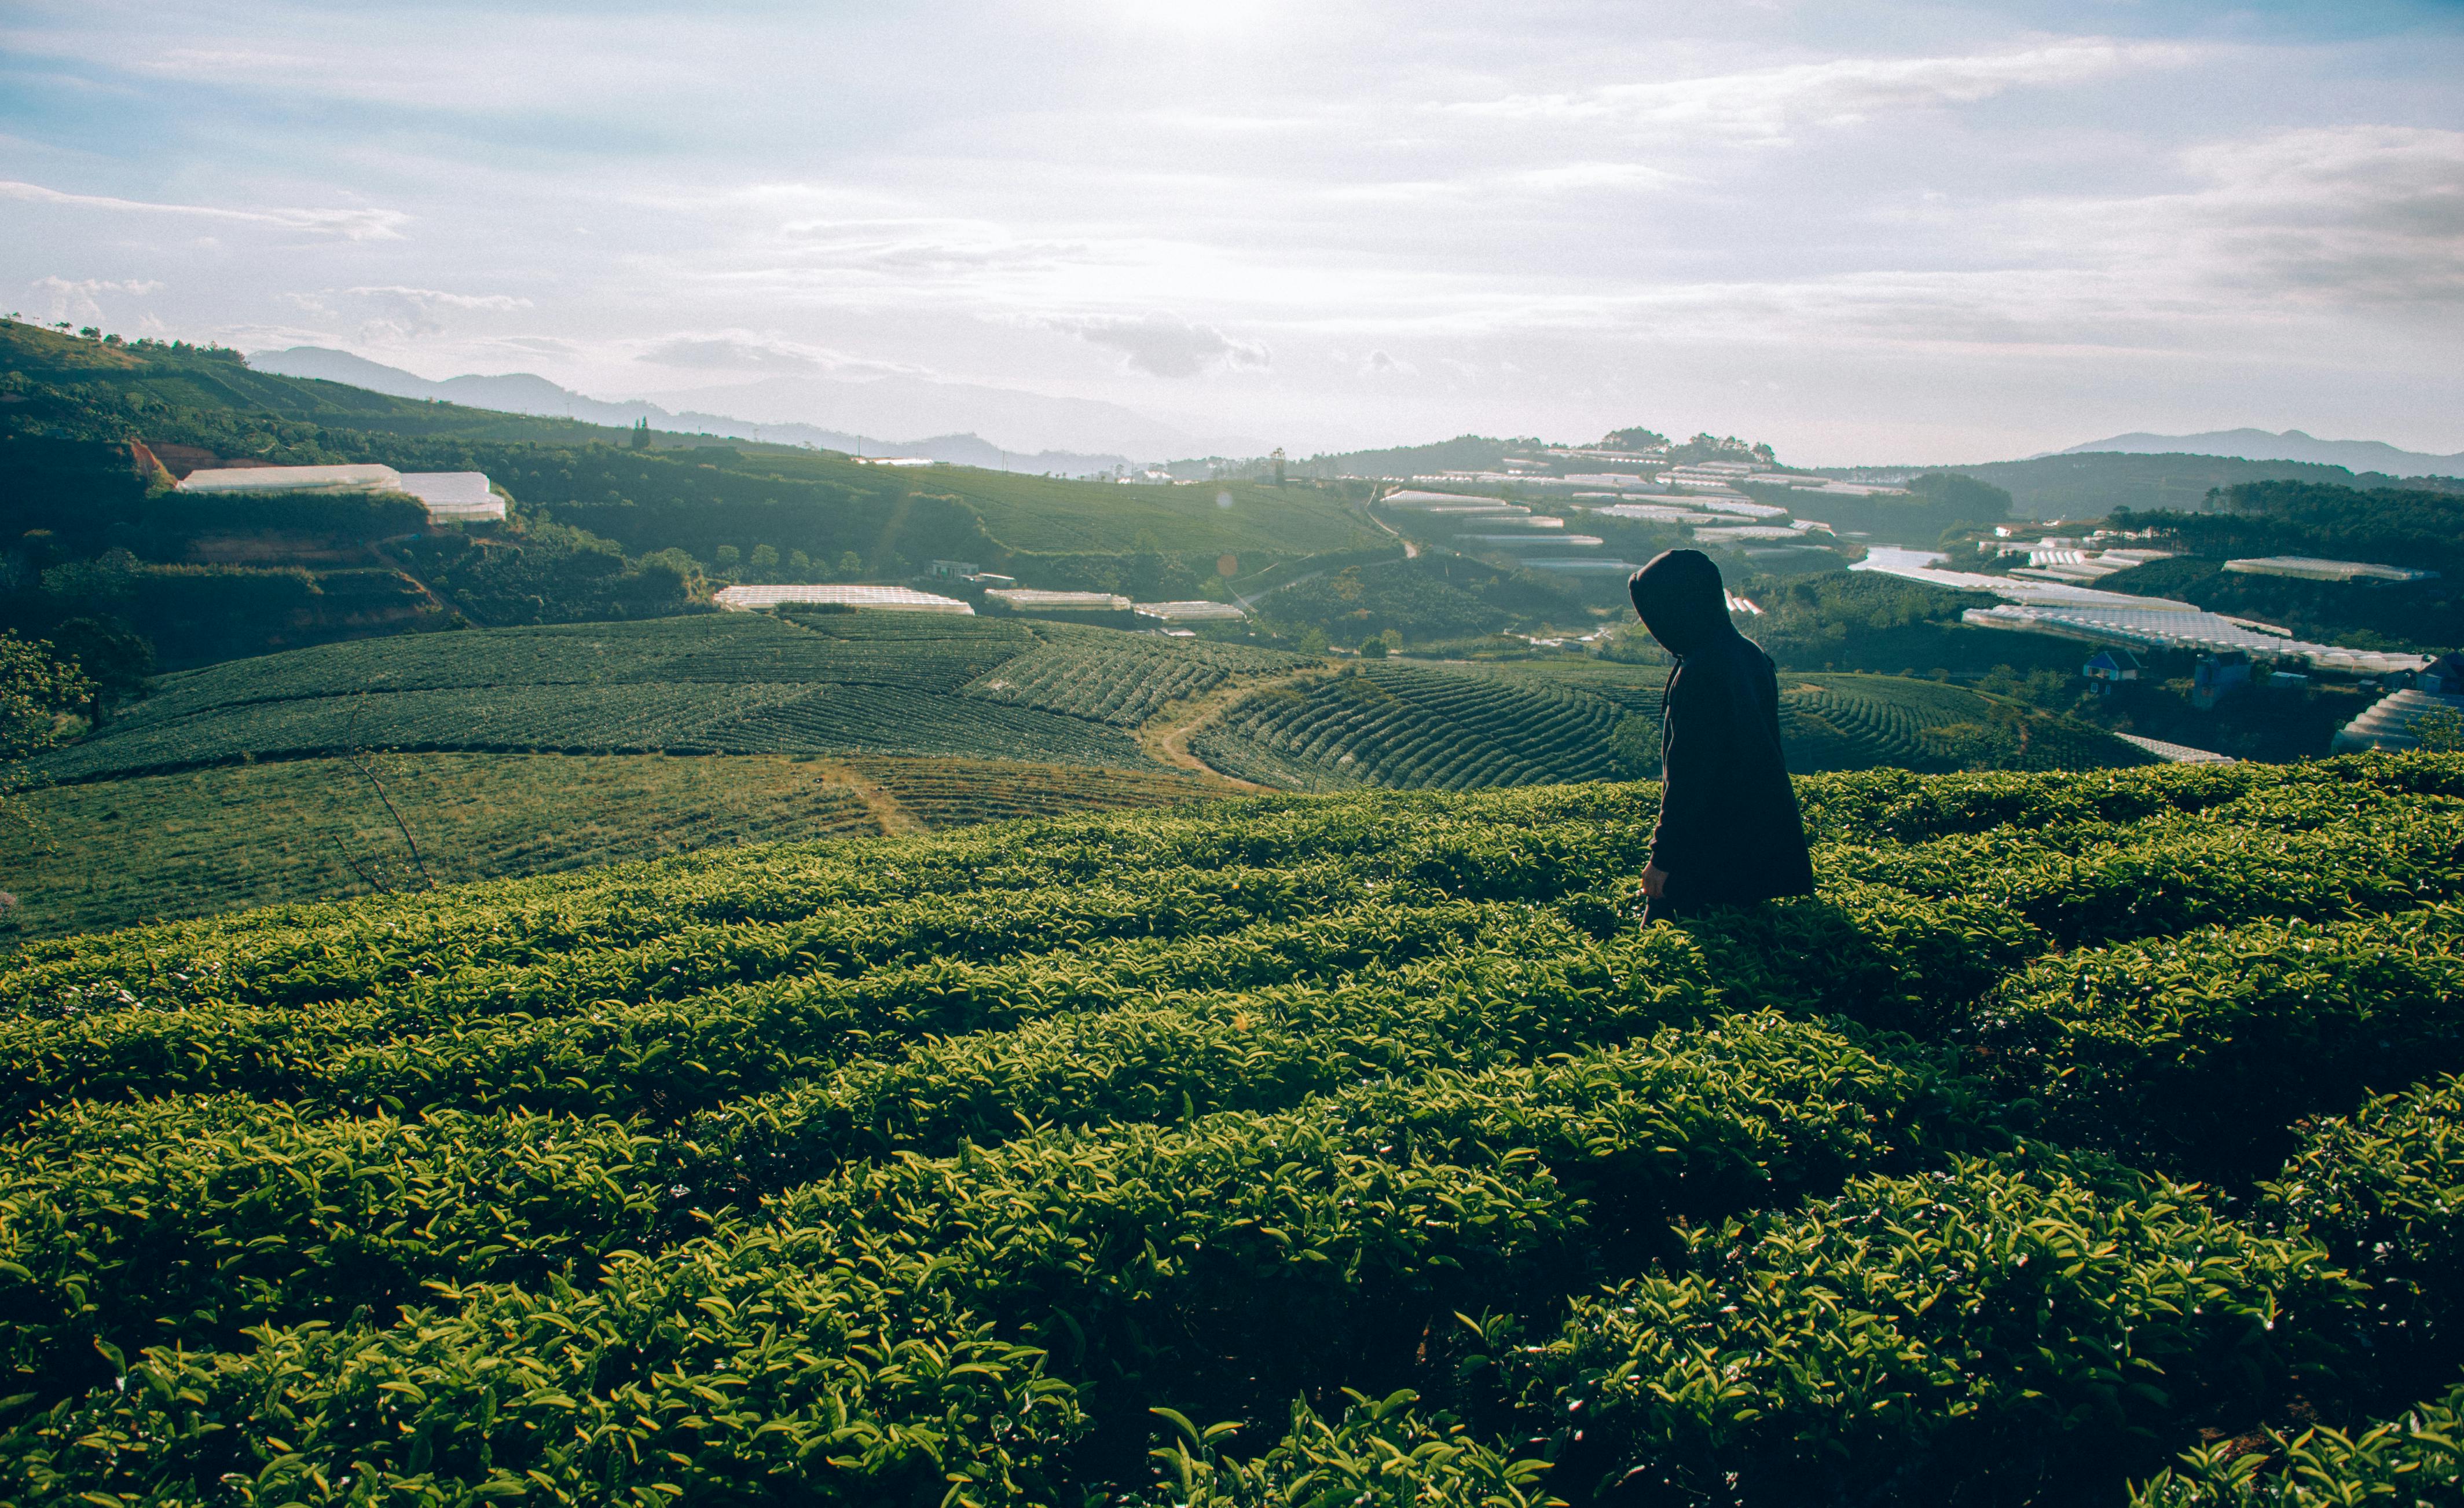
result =
[[[540,1471],[621,1496],[685,1469],[702,1491],[793,1496],[870,1481],[838,1439],[890,1441],[880,1469],[917,1469],[926,1422],[958,1409],[981,1434],[941,1441],[951,1469],[1015,1474],[1050,1464],[1084,1407],[1143,1432],[1156,1387],[1264,1409],[1313,1365],[1409,1368],[1429,1318],[1476,1294],[1562,1291],[1604,1239],[1648,1247],[1668,1212],[1922,1161],[1979,1119],[1956,1084],[1740,1018],[1274,1116],[1040,1131],[850,1170],[660,1254],[611,1252],[589,1289],[439,1286],[439,1311],[392,1326],[153,1348],[126,1390],[59,1400],[0,1451],[59,1496],[286,1456],[328,1483],[448,1459],[473,1483]],[[338,1276],[303,1271],[291,1299]],[[1030,1333],[1074,1387],[1052,1392],[1015,1350]],[[476,1409],[480,1392],[498,1405]]]

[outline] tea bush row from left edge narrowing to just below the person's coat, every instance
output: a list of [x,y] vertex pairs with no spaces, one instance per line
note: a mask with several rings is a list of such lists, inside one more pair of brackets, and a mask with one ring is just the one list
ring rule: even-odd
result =
[[426,1281],[589,1284],[609,1249],[700,1232],[870,1156],[951,1153],[1037,1121],[1286,1109],[1370,1077],[1648,1035],[1703,1015],[1705,991],[1698,978],[1634,995],[1619,954],[1683,951],[1680,934],[1653,931],[1589,968],[1481,954],[1338,991],[929,1040],[683,1136],[540,1114],[315,1116],[241,1097],[74,1106],[0,1153],[0,1313],[17,1321],[0,1360],[76,1377],[94,1370],[94,1333],[227,1345],[264,1321],[392,1316]]

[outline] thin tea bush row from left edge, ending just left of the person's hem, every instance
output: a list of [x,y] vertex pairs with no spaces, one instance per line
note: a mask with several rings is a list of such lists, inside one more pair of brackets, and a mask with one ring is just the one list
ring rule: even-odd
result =
[[806,971],[690,1000],[599,1000],[547,1015],[439,1005],[419,988],[298,1008],[32,1015],[0,1025],[0,1104],[237,1089],[352,1109],[517,1101],[683,1114],[924,1032],[1395,966],[1533,924],[1520,907],[1350,907],[1198,939],[1111,939],[988,963],[894,961],[855,978]]

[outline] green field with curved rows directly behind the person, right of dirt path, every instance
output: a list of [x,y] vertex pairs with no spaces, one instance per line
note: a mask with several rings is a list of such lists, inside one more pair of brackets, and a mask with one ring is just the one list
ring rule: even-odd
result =
[[[1599,660],[1358,670],[1249,692],[1190,739],[1222,774],[1291,791],[1469,791],[1656,769],[1666,670]],[[1651,732],[1624,752],[1611,732]],[[2107,769],[2151,756],[2085,722],[1900,675],[1781,675],[1789,769]]]

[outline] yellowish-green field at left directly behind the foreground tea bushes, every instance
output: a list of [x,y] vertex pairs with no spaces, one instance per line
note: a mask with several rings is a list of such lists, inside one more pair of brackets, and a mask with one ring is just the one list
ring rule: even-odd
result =
[[419,890],[424,875],[456,885],[732,843],[877,835],[850,771],[931,830],[1220,793],[1185,774],[973,759],[293,759],[37,791],[27,816],[39,835],[12,833],[0,875],[20,902],[20,934],[59,936]]

